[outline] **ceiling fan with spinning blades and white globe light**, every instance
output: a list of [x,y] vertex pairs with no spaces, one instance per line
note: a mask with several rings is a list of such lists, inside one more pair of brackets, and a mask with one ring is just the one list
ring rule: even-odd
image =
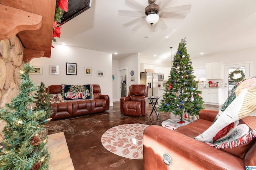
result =
[[158,4],[156,4],[156,0],[148,0],[149,5],[146,7],[135,0],[125,0],[125,2],[127,6],[133,8],[134,10],[118,10],[118,15],[138,17],[123,24],[124,26],[131,26],[138,22],[132,31],[138,30],[138,28],[143,26],[145,21],[147,23],[146,25],[151,26],[151,28],[155,28],[155,25],[158,23],[157,25],[164,30],[167,28],[167,26],[163,18],[175,18],[178,20],[184,19],[186,14],[188,14],[191,9],[191,5],[162,8],[168,3],[173,2],[173,0],[162,0]]

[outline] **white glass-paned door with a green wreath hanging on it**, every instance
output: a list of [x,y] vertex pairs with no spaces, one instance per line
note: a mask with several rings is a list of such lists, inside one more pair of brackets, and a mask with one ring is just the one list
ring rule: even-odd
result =
[[[225,100],[228,98],[232,88],[241,81],[250,77],[250,62],[225,65],[224,70],[224,93]],[[251,71],[252,72],[252,71]]]

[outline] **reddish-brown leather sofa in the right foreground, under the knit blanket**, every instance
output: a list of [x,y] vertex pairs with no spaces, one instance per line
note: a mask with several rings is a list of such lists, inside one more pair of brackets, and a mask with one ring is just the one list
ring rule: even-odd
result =
[[[246,166],[256,166],[255,139],[232,149],[216,149],[194,139],[212,125],[217,113],[218,111],[201,110],[200,119],[176,130],[157,125],[145,128],[143,169],[245,170]],[[166,165],[164,160],[170,165]]]

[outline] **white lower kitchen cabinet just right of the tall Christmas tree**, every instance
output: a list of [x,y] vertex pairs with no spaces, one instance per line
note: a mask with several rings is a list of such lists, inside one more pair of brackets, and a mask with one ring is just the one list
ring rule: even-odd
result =
[[202,88],[201,97],[205,104],[223,105],[224,103],[223,88]]

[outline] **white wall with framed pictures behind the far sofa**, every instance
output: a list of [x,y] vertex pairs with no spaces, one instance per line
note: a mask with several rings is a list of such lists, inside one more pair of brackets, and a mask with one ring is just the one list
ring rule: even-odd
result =
[[[99,84],[101,93],[109,95],[110,106],[113,106],[112,94],[112,54],[90,49],[82,49],[54,43],[50,58],[34,58],[30,63],[42,67],[42,75],[30,75],[31,79],[40,84],[44,82],[49,85],[60,84]],[[66,62],[77,64],[77,75],[66,75]],[[59,65],[59,75],[50,74],[50,65]],[[92,68],[92,75],[85,75],[84,67]],[[97,70],[104,71],[104,77],[97,77]]]

